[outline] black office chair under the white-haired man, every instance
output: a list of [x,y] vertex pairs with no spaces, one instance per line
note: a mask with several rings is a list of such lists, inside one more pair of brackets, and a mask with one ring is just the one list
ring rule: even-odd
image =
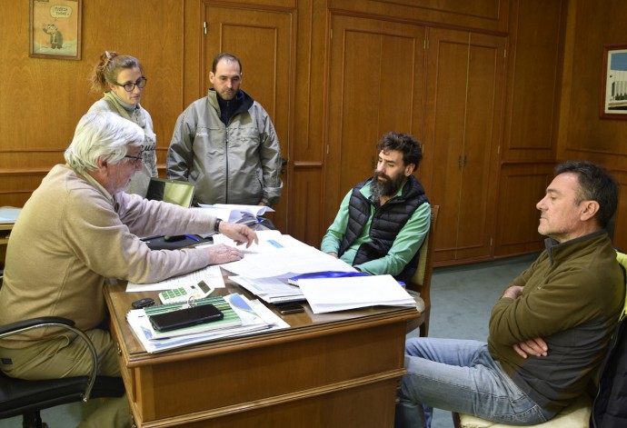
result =
[[97,376],[98,356],[94,344],[74,321],[55,316],[44,316],[10,323],[0,327],[0,339],[41,327],[61,327],[80,337],[92,354],[92,372],[89,375],[25,381],[0,372],[0,419],[23,416],[25,428],[45,427],[40,411],[59,404],[87,402],[90,398],[121,397],[124,383],[121,377]]

